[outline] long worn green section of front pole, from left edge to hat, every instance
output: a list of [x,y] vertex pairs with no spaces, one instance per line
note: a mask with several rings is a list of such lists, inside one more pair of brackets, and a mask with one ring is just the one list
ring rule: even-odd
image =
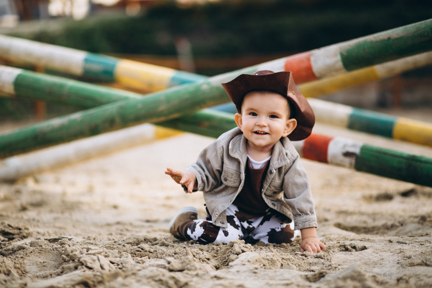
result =
[[[199,97],[198,97],[199,96]],[[0,135],[0,157],[59,144],[143,122],[161,122],[229,101],[222,86],[210,81],[178,86],[57,117]]]

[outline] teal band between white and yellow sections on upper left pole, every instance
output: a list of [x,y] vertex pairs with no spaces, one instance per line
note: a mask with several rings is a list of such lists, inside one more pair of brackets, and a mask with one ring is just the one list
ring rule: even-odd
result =
[[114,82],[114,69],[120,59],[99,55],[87,54],[84,59],[83,76],[104,82]]

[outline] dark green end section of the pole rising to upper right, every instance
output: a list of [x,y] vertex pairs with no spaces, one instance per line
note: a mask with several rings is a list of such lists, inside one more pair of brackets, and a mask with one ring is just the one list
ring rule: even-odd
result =
[[432,19],[394,28],[340,47],[347,71],[432,50]]

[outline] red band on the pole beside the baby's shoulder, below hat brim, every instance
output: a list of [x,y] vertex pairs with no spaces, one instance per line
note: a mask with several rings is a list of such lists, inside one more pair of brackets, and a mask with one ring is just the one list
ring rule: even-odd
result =
[[327,148],[328,143],[333,138],[320,134],[311,134],[311,136],[305,139],[305,143],[303,144],[303,158],[328,163]]

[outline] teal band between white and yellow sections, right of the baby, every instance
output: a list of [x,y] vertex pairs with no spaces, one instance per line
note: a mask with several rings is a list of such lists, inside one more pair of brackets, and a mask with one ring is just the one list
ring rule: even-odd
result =
[[397,117],[365,109],[353,108],[346,128],[392,138]]

